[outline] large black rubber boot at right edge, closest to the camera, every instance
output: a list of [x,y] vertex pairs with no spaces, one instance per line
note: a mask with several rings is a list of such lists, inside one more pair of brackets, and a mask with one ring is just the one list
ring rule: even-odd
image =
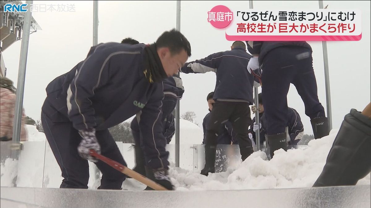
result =
[[371,171],[371,119],[355,109],[345,115],[313,187],[355,185]]

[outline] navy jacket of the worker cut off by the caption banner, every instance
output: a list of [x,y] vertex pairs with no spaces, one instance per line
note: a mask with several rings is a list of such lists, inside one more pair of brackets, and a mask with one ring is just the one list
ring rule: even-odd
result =
[[259,55],[259,64],[263,64],[265,55],[272,49],[282,46],[305,47],[312,51],[306,41],[246,41],[247,50],[254,56]]

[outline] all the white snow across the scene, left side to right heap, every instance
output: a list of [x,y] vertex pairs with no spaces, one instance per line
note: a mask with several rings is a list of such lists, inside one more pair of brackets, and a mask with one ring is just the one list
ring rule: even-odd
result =
[[[275,157],[268,161],[264,152],[254,152],[242,164],[231,166],[226,172],[210,174],[208,177],[193,173],[193,143],[200,144],[202,130],[188,121],[181,121],[180,166],[174,167],[174,145],[168,145],[171,181],[177,191],[189,190],[227,190],[227,189],[269,189],[311,187],[325,165],[326,157],[334,142],[338,130],[319,140],[312,140],[308,147],[292,149],[287,152],[278,150]],[[189,129],[187,129],[187,128]],[[198,129],[196,129],[196,127]],[[198,138],[195,138],[198,132]],[[45,135],[37,132],[34,126],[27,126],[29,141],[24,142],[19,161],[7,158],[1,161],[1,186],[59,188],[62,181],[61,172]],[[198,141],[197,143],[194,141]],[[134,150],[131,144],[116,142],[129,168],[134,167]],[[45,160],[44,160],[45,158]],[[44,168],[45,167],[45,168]],[[18,175],[16,174],[18,171]],[[89,189],[100,185],[100,174],[89,162]],[[16,177],[17,175],[17,177]],[[371,176],[358,181],[357,185],[371,184]],[[143,190],[145,185],[127,179],[124,190]]]

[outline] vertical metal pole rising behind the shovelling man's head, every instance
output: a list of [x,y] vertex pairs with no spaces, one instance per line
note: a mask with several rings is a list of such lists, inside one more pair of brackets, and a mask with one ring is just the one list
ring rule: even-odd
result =
[[[180,31],[180,0],[177,0],[177,30]],[[178,73],[180,77],[180,73]],[[179,146],[180,146],[180,140],[179,140],[179,130],[180,130],[180,100],[177,100],[177,105],[175,107],[175,167],[179,167]]]

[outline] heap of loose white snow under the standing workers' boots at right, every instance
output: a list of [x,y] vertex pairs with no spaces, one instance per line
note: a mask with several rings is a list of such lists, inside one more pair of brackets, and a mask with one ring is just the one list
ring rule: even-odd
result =
[[[170,177],[179,191],[312,187],[321,174],[338,130],[305,149],[278,150],[268,161],[264,152],[254,152],[237,169],[210,174],[208,177],[181,168],[171,168]],[[370,184],[370,174],[358,184]]]

